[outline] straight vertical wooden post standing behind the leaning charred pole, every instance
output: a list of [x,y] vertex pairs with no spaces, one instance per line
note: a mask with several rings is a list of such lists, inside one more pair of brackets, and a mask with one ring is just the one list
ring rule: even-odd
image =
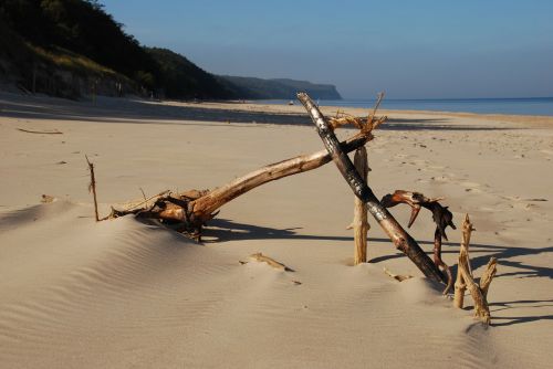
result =
[[[367,150],[365,146],[359,147],[355,150],[354,166],[361,178],[365,181],[368,175],[368,164],[367,164]],[[367,262],[367,232],[369,229],[367,221],[367,204],[363,202],[358,197],[354,199],[354,243],[355,243],[355,256],[354,264],[361,264]]]

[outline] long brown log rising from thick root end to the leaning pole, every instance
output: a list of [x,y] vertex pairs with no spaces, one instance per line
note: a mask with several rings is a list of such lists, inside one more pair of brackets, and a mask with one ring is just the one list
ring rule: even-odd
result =
[[[340,145],[344,152],[349,152],[364,146],[372,139],[372,129],[363,129]],[[298,156],[254,170],[211,191],[190,190],[179,193],[166,191],[150,198],[148,201],[139,201],[124,209],[112,207],[112,213],[107,218],[135,214],[139,218],[158,219],[174,225],[179,232],[199,241],[202,226],[227,202],[261,184],[316,169],[331,160],[332,156],[326,150]]]

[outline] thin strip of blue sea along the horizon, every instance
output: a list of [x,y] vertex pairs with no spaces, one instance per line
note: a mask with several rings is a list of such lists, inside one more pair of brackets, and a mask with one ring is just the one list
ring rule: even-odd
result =
[[[288,104],[289,101],[263,101],[268,104]],[[298,102],[294,102],[299,104]],[[375,101],[336,99],[320,101],[321,106],[371,108]],[[481,114],[515,114],[553,116],[553,97],[536,98],[460,98],[460,99],[388,99],[380,105],[384,109],[438,110]]]

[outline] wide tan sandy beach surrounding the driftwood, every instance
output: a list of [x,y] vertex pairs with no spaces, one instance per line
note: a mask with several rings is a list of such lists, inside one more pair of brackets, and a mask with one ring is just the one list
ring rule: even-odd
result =
[[[499,263],[490,327],[371,218],[369,263],[352,265],[354,197],[332,162],[231,201],[202,244],[133,217],[94,221],[85,155],[107,214],[142,191],[212,189],[321,150],[301,106],[0,93],[0,367],[550,367],[553,117],[379,113],[371,187],[445,197],[458,228],[471,215],[474,275]],[[407,224],[407,207],[390,211]],[[431,253],[430,212],[409,233]],[[448,235],[456,265],[461,235]],[[293,272],[240,263],[255,252]]]

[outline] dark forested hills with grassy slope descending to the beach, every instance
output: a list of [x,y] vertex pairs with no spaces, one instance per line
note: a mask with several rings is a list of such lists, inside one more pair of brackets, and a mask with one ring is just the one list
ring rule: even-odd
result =
[[170,50],[140,45],[97,1],[0,0],[0,82],[23,91],[71,98],[290,98],[289,83],[233,78],[215,76]]

